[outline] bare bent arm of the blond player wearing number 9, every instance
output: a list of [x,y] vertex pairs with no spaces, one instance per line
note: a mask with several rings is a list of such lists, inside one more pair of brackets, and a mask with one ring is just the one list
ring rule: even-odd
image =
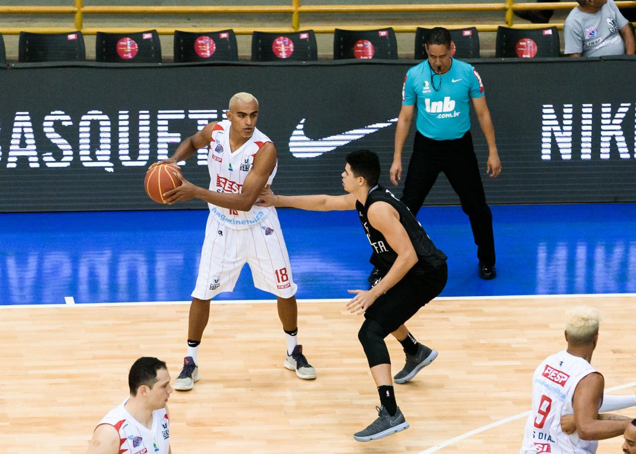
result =
[[579,438],[583,440],[604,440],[618,437],[625,432],[630,422],[625,420],[599,420],[598,402],[603,396],[605,380],[599,373],[591,373],[581,379],[572,403],[574,407],[574,421]]

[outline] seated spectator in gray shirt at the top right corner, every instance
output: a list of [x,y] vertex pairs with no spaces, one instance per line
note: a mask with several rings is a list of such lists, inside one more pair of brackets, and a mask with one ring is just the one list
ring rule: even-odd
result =
[[634,54],[632,28],[614,0],[577,2],[563,25],[567,57]]

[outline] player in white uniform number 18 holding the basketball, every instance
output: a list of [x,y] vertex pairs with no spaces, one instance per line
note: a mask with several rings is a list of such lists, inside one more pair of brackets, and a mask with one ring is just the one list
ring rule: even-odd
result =
[[200,198],[210,214],[205,227],[197,284],[192,292],[188,324],[188,354],[174,383],[177,390],[192,389],[197,382],[197,352],[210,313],[210,301],[230,292],[247,262],[254,285],[277,296],[278,312],[287,341],[284,366],[305,380],[316,377],[315,369],[298,345],[298,309],[287,247],[276,209],[254,205],[261,191],[272,184],[277,152],[270,139],[256,129],[258,100],[249,93],[230,99],[227,120],[212,121],[181,142],[167,161],[176,164],[207,147],[209,189],[183,180],[165,193],[167,203]]

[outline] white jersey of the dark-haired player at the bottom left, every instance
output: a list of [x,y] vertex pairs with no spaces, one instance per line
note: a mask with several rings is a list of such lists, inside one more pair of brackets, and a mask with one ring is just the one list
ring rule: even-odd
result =
[[153,427],[147,429],[124,408],[126,398],[109,411],[99,425],[109,424],[120,434],[119,454],[168,454],[170,422],[165,408],[153,411]]

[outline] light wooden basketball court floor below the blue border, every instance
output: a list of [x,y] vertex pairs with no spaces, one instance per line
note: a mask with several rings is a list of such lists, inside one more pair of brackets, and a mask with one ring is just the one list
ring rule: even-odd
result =
[[[343,301],[299,303],[314,381],[282,366],[273,302],[214,303],[199,352],[202,378],[170,396],[172,452],[517,453],[532,371],[565,348],[564,311],[579,304],[603,314],[592,364],[606,388],[635,390],[636,296],[435,299],[408,326],[439,357],[395,385],[410,429],[358,443],[352,434],[375,419],[378,396],[357,341],[362,319]],[[137,357],[163,359],[176,378],[188,308],[0,307],[0,452],[85,452],[95,424],[127,396]],[[392,338],[387,343],[395,372],[403,352]],[[618,413],[636,416],[636,408]],[[601,441],[597,452],[618,453],[622,443]]]

